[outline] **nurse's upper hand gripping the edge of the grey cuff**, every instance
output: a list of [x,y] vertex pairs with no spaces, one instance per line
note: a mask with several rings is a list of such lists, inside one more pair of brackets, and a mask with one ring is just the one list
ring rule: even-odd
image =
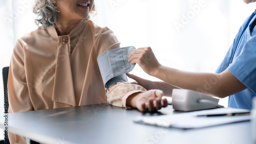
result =
[[154,76],[155,71],[161,65],[154,55],[151,47],[141,47],[131,52],[129,60],[131,64],[138,63],[139,66],[151,76]]

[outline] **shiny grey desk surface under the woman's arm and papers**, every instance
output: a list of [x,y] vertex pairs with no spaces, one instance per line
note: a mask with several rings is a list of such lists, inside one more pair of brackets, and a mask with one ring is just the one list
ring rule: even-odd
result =
[[138,116],[173,112],[172,106],[142,113],[97,104],[10,113],[8,123],[10,132],[44,143],[252,143],[250,122],[190,130],[133,122]]

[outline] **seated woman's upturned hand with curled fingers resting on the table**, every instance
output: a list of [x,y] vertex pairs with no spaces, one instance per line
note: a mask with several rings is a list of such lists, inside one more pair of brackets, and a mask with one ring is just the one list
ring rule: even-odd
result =
[[167,100],[163,97],[161,90],[153,89],[144,93],[135,93],[131,95],[126,103],[129,106],[136,107],[140,111],[157,111],[162,107],[167,107]]

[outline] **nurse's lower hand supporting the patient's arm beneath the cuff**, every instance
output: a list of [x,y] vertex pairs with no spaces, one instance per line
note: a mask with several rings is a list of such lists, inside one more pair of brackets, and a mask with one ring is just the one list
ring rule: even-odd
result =
[[136,81],[136,82],[133,82],[133,83],[138,84],[138,85],[144,87],[146,90],[159,89],[157,87],[157,85],[155,84],[155,82],[153,82],[153,81],[142,79],[140,77],[137,77],[137,76],[135,76],[133,74],[129,74],[129,73],[127,73],[126,75],[129,78],[134,79]]

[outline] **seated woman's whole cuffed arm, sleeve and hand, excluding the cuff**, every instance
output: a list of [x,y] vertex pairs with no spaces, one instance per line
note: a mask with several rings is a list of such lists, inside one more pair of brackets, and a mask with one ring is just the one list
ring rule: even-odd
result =
[[[114,33],[104,28],[96,38],[96,58],[103,52],[120,47],[120,43]],[[155,111],[167,106],[167,100],[161,99],[161,90],[146,91],[140,85],[129,82],[117,82],[106,91],[108,102],[118,107],[135,107],[140,111]]]

